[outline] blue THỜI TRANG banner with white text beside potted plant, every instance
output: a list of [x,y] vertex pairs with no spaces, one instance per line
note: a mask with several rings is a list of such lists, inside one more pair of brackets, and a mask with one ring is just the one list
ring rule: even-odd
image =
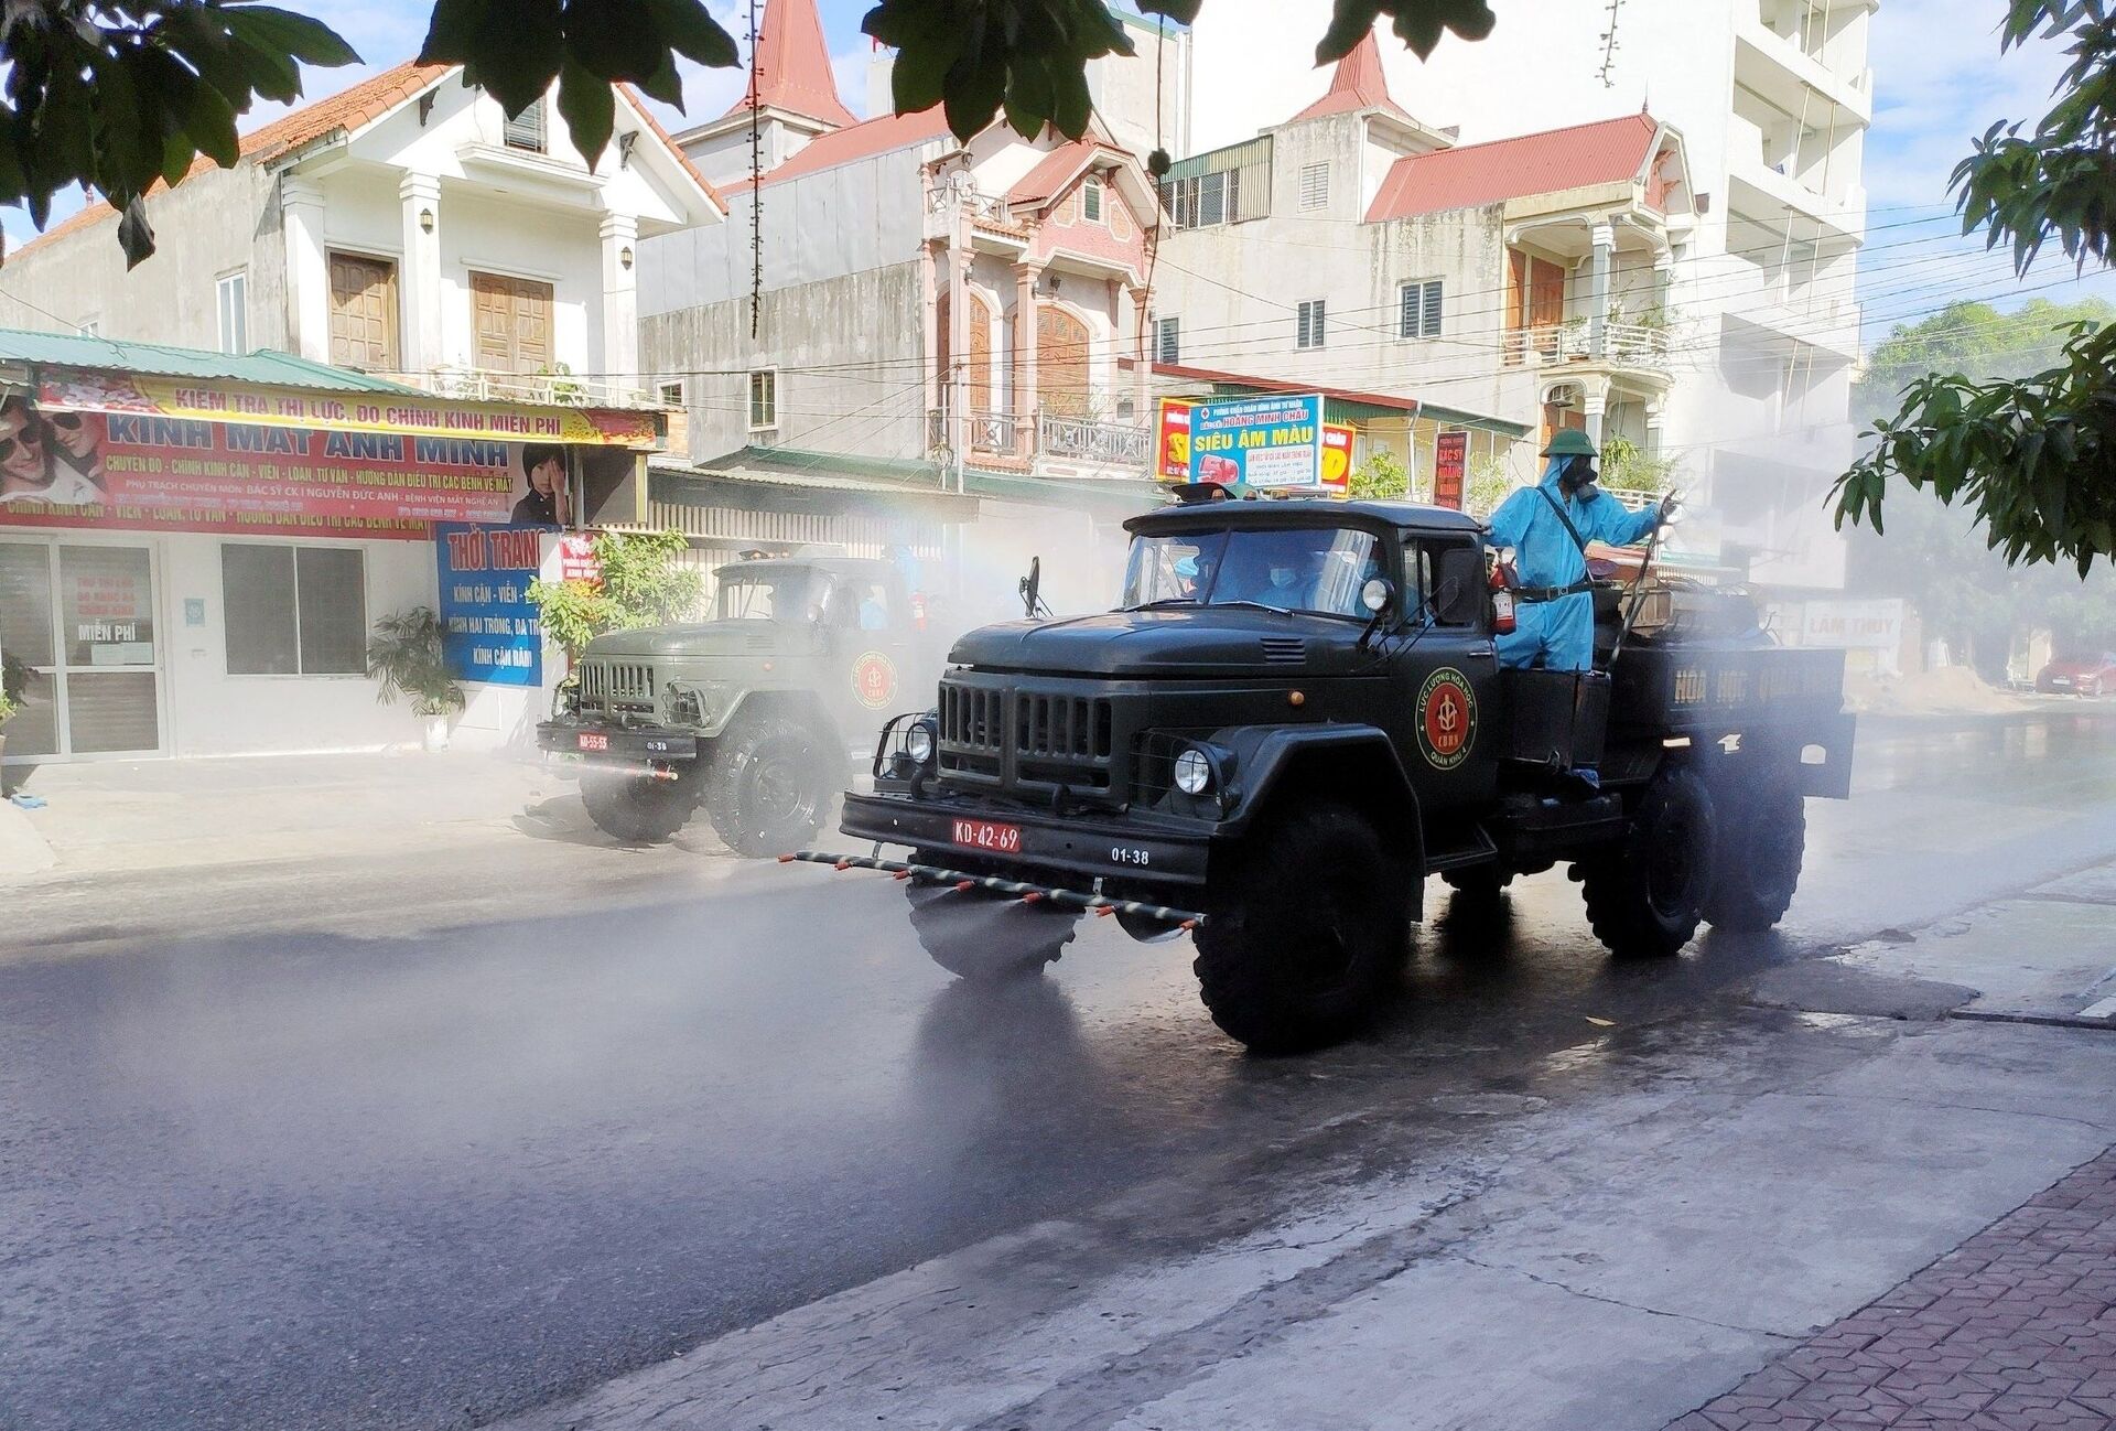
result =
[[489,686],[544,684],[544,624],[529,601],[544,538],[537,527],[434,527],[449,675]]

